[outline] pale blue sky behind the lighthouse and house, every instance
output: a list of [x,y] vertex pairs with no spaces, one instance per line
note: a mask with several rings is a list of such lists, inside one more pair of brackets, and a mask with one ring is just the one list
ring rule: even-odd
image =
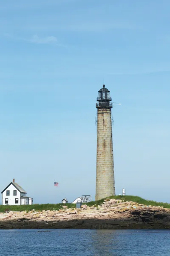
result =
[[[96,97],[113,102],[116,194],[168,201],[170,1],[0,4],[0,188],[95,196]],[[59,187],[54,187],[54,179]]]

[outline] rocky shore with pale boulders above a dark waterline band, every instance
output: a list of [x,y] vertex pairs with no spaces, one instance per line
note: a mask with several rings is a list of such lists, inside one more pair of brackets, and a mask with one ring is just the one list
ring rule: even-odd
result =
[[169,229],[170,209],[106,199],[101,206],[0,213],[0,229]]

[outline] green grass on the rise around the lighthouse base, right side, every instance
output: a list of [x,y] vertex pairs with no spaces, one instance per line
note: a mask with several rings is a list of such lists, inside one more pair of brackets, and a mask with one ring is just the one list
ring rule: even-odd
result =
[[[144,198],[141,198],[139,196],[135,196],[135,195],[116,195],[116,196],[111,196],[108,198],[115,198],[118,200],[124,200],[124,201],[133,201],[135,203],[139,203],[139,204],[144,204],[144,205],[152,205],[152,206],[163,206],[164,208],[170,208],[170,204],[168,203],[162,203],[162,202],[156,202],[156,201],[149,201],[149,200],[145,200]],[[88,206],[97,206],[97,205],[101,205],[104,202],[104,199],[100,199],[98,201],[92,201],[87,203]]]

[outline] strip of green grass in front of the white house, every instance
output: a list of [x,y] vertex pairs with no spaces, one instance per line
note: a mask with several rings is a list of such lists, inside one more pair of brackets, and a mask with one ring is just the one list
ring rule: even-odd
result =
[[32,204],[32,205],[0,205],[0,212],[8,212],[8,211],[31,211],[35,209],[35,211],[42,210],[59,210],[63,209],[62,205],[66,205],[68,208],[75,208],[76,204]]

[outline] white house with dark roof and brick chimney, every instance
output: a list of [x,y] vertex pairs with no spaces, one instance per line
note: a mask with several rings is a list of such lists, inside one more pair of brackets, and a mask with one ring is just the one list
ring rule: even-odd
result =
[[33,204],[33,198],[26,196],[27,192],[19,186],[15,179],[1,192],[3,205]]

